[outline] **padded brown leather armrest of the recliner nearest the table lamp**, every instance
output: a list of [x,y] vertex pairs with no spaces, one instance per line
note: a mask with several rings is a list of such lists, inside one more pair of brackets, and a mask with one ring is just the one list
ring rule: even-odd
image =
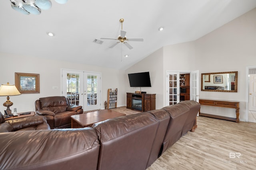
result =
[[44,116],[31,116],[31,117],[23,117],[20,119],[11,119],[7,120],[14,131],[18,131],[20,129],[24,129],[26,127],[38,126],[40,124],[46,123],[46,119]]

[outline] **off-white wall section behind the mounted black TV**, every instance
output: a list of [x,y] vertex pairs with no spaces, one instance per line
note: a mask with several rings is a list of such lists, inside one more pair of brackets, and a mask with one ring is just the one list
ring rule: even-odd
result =
[[[141,91],[148,94],[156,94],[156,109],[162,108],[163,103],[163,48],[158,49],[142,61],[134,64],[125,71],[125,92],[134,93],[140,88],[132,88],[129,84],[129,73],[148,72],[150,74],[151,87],[142,87]],[[125,96],[126,101],[126,96]]]

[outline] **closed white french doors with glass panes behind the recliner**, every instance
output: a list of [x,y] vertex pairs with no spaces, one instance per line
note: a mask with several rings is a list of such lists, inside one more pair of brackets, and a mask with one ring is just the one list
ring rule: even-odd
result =
[[100,73],[62,70],[62,95],[84,111],[100,109]]

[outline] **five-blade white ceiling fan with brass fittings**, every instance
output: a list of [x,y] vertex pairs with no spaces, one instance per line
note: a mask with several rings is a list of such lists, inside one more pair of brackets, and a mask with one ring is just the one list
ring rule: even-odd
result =
[[115,47],[118,43],[124,43],[124,45],[126,45],[126,47],[128,47],[128,49],[133,49],[133,47],[126,41],[143,41],[143,38],[127,38],[126,35],[126,31],[123,30],[123,22],[124,19],[121,18],[119,20],[122,23],[122,29],[120,31],[120,35],[118,35],[118,38],[100,38],[100,39],[112,39],[112,40],[119,40],[118,42],[114,43],[113,45],[111,45],[109,48],[113,48]]

